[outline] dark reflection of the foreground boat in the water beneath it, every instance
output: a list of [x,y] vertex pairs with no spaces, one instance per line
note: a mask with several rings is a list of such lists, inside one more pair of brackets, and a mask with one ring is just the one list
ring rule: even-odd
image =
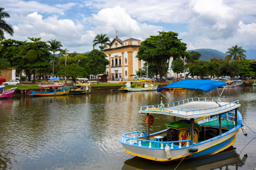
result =
[[241,159],[239,154],[236,153],[236,148],[231,146],[215,155],[201,159],[183,160],[180,165],[180,161],[158,162],[135,156],[134,158],[128,159],[124,162],[122,170],[174,170],[176,167],[177,170],[213,170],[221,168],[228,170],[230,169],[229,166],[235,166],[236,169],[238,167],[242,167],[245,164],[246,159],[247,154],[245,154]]

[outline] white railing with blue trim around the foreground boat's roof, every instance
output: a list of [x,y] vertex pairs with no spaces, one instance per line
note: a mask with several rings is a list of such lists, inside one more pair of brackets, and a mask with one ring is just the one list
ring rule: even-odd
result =
[[[168,109],[171,109],[171,110],[175,110],[175,111],[177,111],[177,114],[185,113],[185,115],[187,116],[187,115],[197,115],[197,114],[195,114],[195,111],[198,111],[199,114],[201,114],[201,113],[214,113],[214,112],[218,112],[218,111],[223,111],[223,110],[228,109],[228,108],[232,108],[235,105],[239,105],[239,100],[236,100],[234,102],[230,102],[230,103],[227,103],[225,105],[221,105],[221,106],[214,107],[214,108],[207,108],[207,109],[197,109],[197,110],[184,111],[184,110],[172,108],[173,106],[175,106],[175,103],[178,103],[178,105],[183,105],[183,104],[188,103],[188,102],[201,101],[200,99],[202,99],[202,98],[204,98],[204,102],[214,102],[213,99],[217,99],[217,98],[212,99],[212,98],[207,98],[207,97],[189,98],[189,99],[192,99],[192,101],[189,101],[189,99],[185,99],[185,100],[181,100],[181,101],[177,101],[177,102],[166,103],[167,107],[164,107],[164,105],[166,105],[166,104],[164,104],[163,108],[168,108]],[[194,100],[194,99],[198,99],[198,100]],[[212,99],[212,101],[207,101],[207,99]],[[180,102],[182,102],[182,103],[180,104]],[[169,104],[173,104],[173,106],[170,106]],[[149,107],[160,108],[160,105],[141,106],[140,111],[144,111],[144,110],[148,111]],[[163,110],[162,110],[162,112],[163,112]]]

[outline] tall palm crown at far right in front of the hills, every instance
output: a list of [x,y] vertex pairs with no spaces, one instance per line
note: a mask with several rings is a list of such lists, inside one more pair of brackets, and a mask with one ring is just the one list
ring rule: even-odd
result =
[[240,46],[235,45],[231,48],[227,49],[228,51],[225,54],[228,54],[225,59],[230,61],[233,57],[233,60],[235,61],[240,61],[242,59],[246,59],[246,55],[244,53],[246,53],[246,51]]

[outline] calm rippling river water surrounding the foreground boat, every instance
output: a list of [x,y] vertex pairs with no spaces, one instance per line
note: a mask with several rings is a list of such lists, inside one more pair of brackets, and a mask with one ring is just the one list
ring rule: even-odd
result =
[[[170,98],[186,99],[192,92],[178,90]],[[216,90],[210,94],[218,96]],[[191,97],[196,96],[207,97],[197,90]],[[227,88],[222,96],[221,101],[240,100],[244,122],[256,132],[256,87]],[[179,162],[134,157],[125,153],[119,143],[122,133],[146,131],[146,115],[138,113],[139,107],[147,102],[160,104],[160,98],[152,91],[0,99],[0,169],[175,169]],[[164,98],[163,102],[168,101]],[[172,116],[153,116],[150,133],[165,129],[163,123],[172,121]],[[177,169],[226,169],[229,165],[230,170],[252,170],[256,167],[256,134],[246,129],[247,137],[241,130],[237,133],[233,144],[236,149],[183,161]],[[242,167],[230,165],[237,164],[245,154],[247,160]]]

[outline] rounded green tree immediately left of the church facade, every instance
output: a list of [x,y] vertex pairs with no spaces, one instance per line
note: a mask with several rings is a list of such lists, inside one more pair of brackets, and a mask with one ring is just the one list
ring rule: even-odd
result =
[[[108,59],[106,59],[107,55],[103,52],[93,49],[88,54],[88,63],[87,66],[92,69],[92,73],[96,73],[96,75],[99,75],[100,73],[104,73],[106,71],[106,66],[110,65],[110,62]],[[101,70],[104,68],[104,70]],[[95,75],[95,74],[94,74]],[[99,76],[97,78],[97,83],[99,82]]]

